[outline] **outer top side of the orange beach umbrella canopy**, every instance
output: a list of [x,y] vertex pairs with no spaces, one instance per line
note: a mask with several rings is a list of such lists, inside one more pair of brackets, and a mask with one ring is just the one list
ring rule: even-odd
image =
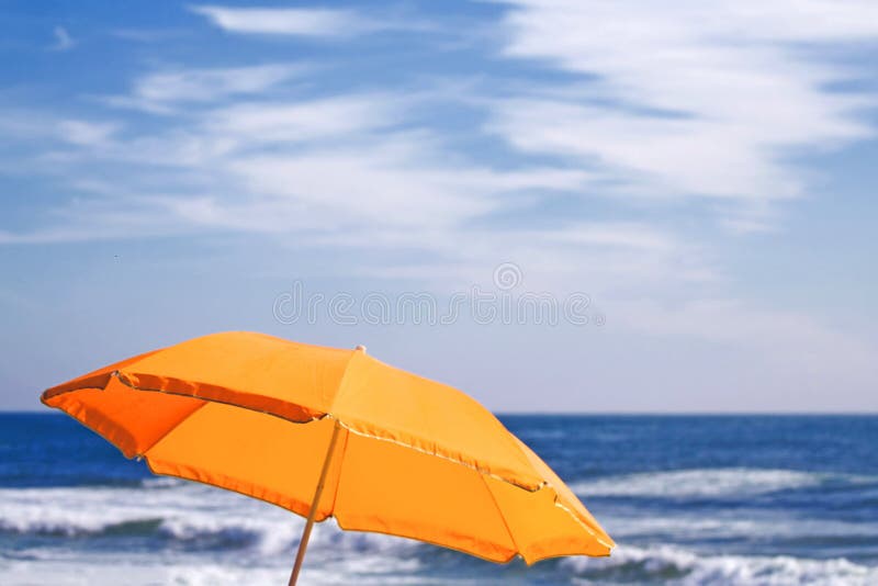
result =
[[291,421],[331,414],[360,433],[455,460],[527,489],[544,483],[515,438],[476,401],[361,351],[262,334],[214,334],[106,367],[44,397],[114,381]]

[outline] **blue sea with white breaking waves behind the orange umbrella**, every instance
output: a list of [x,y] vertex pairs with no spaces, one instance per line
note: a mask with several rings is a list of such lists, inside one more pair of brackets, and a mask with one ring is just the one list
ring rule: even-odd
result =
[[[878,417],[507,416],[618,542],[527,567],[317,526],[305,584],[878,584]],[[302,520],[0,414],[0,583],[285,584]]]

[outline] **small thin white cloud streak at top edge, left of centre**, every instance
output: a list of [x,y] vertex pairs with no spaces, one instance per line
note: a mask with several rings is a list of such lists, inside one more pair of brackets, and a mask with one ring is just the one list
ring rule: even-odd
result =
[[305,37],[352,36],[380,29],[349,10],[194,7],[192,11],[230,33]]

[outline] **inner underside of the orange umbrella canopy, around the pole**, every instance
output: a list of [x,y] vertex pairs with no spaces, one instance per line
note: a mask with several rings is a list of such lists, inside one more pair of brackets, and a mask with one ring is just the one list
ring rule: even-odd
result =
[[[116,380],[48,402],[158,473],[309,512],[336,421],[282,418]],[[533,457],[536,458],[536,455]],[[574,497],[575,498],[575,497]],[[315,515],[345,529],[408,537],[504,562],[606,554],[549,486],[529,492],[476,469],[342,427]],[[608,538],[607,538],[608,539]]]

